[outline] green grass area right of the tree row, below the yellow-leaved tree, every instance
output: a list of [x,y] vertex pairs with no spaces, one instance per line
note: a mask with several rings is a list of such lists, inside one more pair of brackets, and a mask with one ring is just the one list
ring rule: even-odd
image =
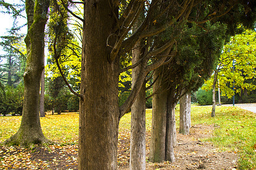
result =
[[206,139],[221,150],[238,152],[239,169],[256,168],[256,114],[237,107],[219,106],[210,117],[212,107],[192,107],[192,124],[214,125],[214,137]]

